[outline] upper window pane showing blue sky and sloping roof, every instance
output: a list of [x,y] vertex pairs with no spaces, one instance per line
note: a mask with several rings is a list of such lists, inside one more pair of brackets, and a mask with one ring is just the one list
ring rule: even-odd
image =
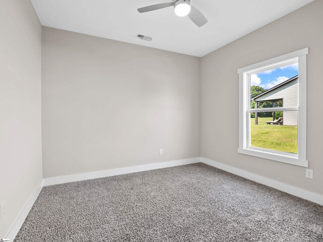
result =
[[298,106],[298,63],[250,75],[250,108]]

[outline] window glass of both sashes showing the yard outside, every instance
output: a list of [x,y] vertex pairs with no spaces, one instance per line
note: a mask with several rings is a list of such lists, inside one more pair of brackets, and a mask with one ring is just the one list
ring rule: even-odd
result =
[[[250,74],[249,147],[297,154],[298,62]],[[277,110],[276,110],[277,109]],[[285,115],[284,115],[285,114]]]

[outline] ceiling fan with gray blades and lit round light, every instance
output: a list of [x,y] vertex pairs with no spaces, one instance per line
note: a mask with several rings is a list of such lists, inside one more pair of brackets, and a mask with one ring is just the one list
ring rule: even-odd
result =
[[145,12],[150,12],[150,11],[174,6],[174,11],[177,16],[182,17],[187,15],[193,21],[193,23],[196,24],[198,27],[202,27],[204,24],[206,24],[207,19],[204,17],[204,15],[196,8],[191,6],[192,0],[172,0],[172,1],[173,2],[155,4],[155,5],[139,8],[138,12],[145,13]]

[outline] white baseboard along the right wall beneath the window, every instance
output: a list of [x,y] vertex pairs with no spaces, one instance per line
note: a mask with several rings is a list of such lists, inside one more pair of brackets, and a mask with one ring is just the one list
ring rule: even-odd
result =
[[209,160],[209,159],[201,157],[201,162],[203,162],[207,165],[214,166],[219,169],[228,171],[230,173],[242,176],[242,177],[247,178],[249,180],[256,181],[257,183],[266,185],[268,187],[275,188],[275,189],[283,191],[285,193],[292,194],[296,197],[300,197],[300,198],[309,200],[311,202],[317,203],[319,205],[323,205],[323,195],[320,195],[317,193],[312,193],[312,192],[306,191],[301,188],[293,187],[291,185],[281,183],[280,181],[266,178],[264,176],[257,175],[257,174],[254,174],[254,173],[251,173],[251,172],[248,172],[245,170],[241,170],[239,168],[236,168],[236,167],[233,167],[230,165],[226,165],[226,164],[220,163],[218,161],[213,161],[213,160]]

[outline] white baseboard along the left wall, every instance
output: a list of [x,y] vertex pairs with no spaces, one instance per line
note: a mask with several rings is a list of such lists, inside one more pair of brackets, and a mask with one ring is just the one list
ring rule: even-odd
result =
[[17,233],[19,232],[19,229],[21,228],[21,225],[24,223],[30,209],[32,208],[32,205],[34,205],[43,186],[44,186],[44,181],[41,180],[40,184],[35,189],[34,193],[31,195],[25,207],[21,210],[17,220],[15,221],[14,225],[12,226],[12,228],[10,229],[9,233],[6,236],[6,238],[10,238],[10,241],[14,241]]

